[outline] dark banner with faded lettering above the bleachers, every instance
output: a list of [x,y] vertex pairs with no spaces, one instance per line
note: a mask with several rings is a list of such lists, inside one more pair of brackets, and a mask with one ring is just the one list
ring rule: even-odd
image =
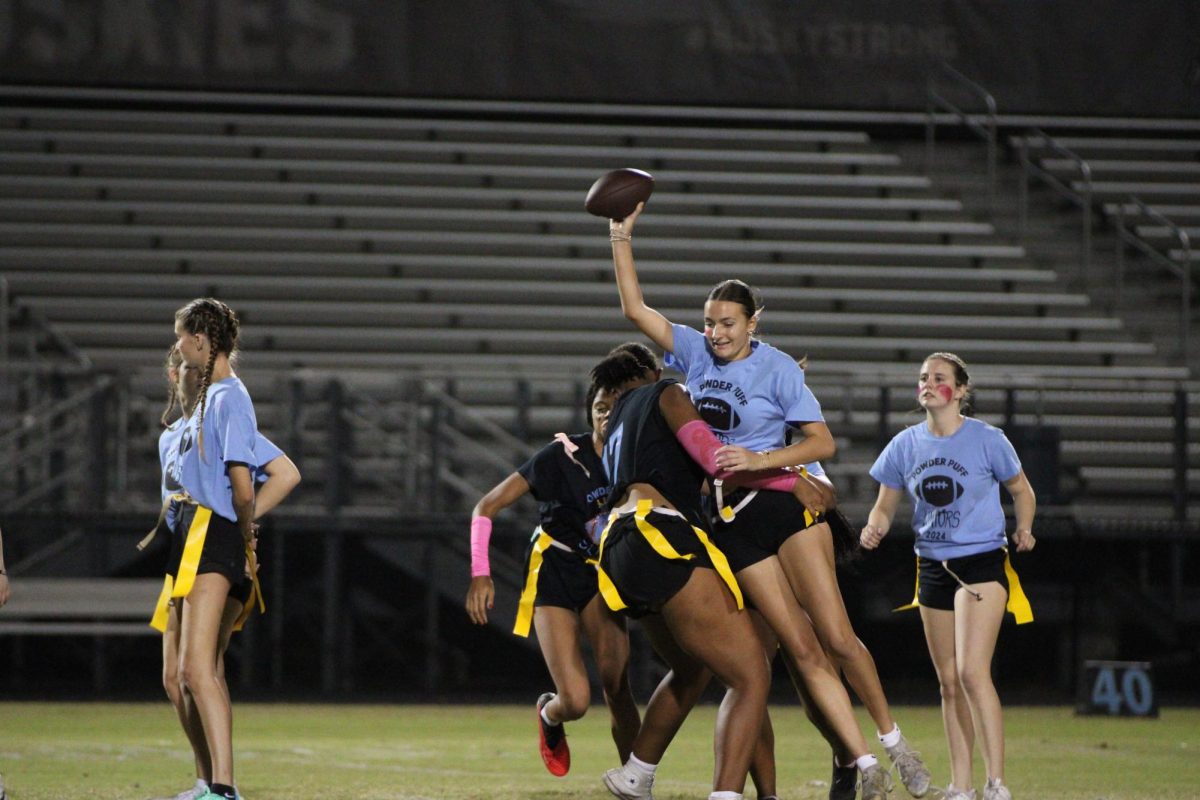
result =
[[1200,4],[0,0],[10,84],[919,110],[943,60],[1001,113],[1198,116]]

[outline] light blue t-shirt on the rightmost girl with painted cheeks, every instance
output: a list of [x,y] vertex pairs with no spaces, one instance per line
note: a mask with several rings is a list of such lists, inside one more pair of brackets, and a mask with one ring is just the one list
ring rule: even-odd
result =
[[917,554],[944,561],[1004,547],[996,485],[1020,471],[1004,432],[966,417],[948,437],[935,437],[925,422],[905,428],[875,459],[871,477],[908,492]]

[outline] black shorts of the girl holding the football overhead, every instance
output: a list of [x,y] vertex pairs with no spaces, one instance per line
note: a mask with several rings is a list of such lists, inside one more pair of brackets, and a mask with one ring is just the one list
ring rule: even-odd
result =
[[[745,497],[746,491],[736,491],[725,495],[725,505],[737,507]],[[714,517],[713,541],[737,573],[778,553],[797,531],[824,522],[824,515],[815,518],[805,515],[804,504],[791,492],[758,492],[737,511],[732,522]]]

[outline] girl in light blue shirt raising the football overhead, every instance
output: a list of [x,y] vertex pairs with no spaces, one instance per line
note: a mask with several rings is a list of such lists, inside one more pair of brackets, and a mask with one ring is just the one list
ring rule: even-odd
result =
[[[685,374],[696,407],[725,446],[721,468],[732,473],[806,464],[833,456],[833,435],[820,403],[804,384],[804,371],[784,353],[755,338],[762,307],[740,281],[718,284],[704,303],[704,331],[672,324],[646,305],[634,264],[632,229],[642,206],[610,222],[613,264],[625,317],[668,354]],[[799,440],[785,444],[788,431]],[[715,523],[738,582],[779,637],[790,669],[836,732],[859,772],[863,800],[883,800],[888,775],[868,747],[854,718],[844,672],[878,729],[881,744],[913,796],[930,787],[929,770],[900,734],[875,669],[854,634],[838,588],[834,548],[824,509],[805,509],[780,493],[744,493],[721,504]],[[839,794],[832,796],[840,800]]]

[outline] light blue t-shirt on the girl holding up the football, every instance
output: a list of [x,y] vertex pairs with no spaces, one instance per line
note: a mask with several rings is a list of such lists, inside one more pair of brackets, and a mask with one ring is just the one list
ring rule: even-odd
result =
[[684,373],[688,393],[716,438],[748,450],[778,450],[788,425],[823,422],[804,371],[786,353],[752,342],[750,355],[720,361],[700,331],[672,325],[666,365]]

